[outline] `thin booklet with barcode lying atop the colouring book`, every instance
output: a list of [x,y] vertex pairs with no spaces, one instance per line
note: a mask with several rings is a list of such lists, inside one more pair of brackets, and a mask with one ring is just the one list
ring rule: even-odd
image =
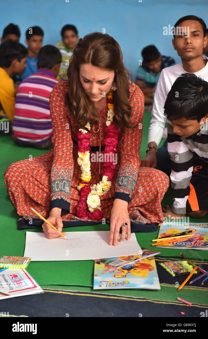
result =
[[95,261],[102,262],[103,264],[112,266],[112,267],[123,267],[128,262],[139,262],[140,260],[154,255],[159,254],[160,252],[154,252],[148,248],[141,247],[142,255],[135,254],[123,257],[113,257],[113,258],[103,258],[103,259],[94,259]]

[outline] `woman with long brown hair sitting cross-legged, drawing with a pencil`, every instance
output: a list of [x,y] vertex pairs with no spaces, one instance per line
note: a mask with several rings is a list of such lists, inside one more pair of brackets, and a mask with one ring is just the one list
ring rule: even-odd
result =
[[19,228],[42,225],[53,239],[62,227],[106,220],[109,244],[117,245],[120,228],[123,241],[126,233],[129,240],[131,232],[153,232],[163,221],[169,180],[140,167],[144,96],[128,80],[122,59],[118,42],[107,34],[79,39],[67,79],[50,96],[54,148],[5,171],[7,192],[22,216]]

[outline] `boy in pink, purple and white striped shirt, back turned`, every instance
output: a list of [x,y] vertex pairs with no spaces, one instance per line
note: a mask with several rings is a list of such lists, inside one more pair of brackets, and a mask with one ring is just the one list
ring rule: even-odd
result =
[[61,53],[52,45],[40,49],[38,72],[25,78],[17,91],[12,139],[19,146],[52,149],[49,96],[58,82]]

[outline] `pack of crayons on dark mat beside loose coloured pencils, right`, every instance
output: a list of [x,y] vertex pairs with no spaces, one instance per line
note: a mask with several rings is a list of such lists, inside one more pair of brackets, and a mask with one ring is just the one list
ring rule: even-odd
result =
[[193,271],[193,266],[189,265],[188,262],[184,260],[165,261],[163,263],[160,263],[160,265],[173,277],[182,274],[189,274]]

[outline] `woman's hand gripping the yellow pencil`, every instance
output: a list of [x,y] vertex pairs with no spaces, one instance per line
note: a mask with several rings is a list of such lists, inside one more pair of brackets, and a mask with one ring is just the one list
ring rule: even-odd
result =
[[[44,223],[42,224],[42,228],[43,228],[43,232],[46,234],[48,239],[54,239],[54,238],[60,237],[61,230],[63,227],[61,215],[59,213],[51,213],[49,217],[47,218],[47,221],[49,221],[53,226],[57,228],[57,230],[54,230],[53,227],[51,227],[44,221]],[[66,232],[62,232],[62,233],[65,234]]]

